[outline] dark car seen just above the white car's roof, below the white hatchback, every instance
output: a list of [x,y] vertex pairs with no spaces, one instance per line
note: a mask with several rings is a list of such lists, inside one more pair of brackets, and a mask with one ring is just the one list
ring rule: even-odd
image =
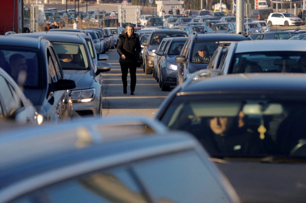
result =
[[275,32],[262,32],[253,33],[249,37],[253,40],[257,39],[289,39],[290,37],[299,34],[293,31],[275,31]]

